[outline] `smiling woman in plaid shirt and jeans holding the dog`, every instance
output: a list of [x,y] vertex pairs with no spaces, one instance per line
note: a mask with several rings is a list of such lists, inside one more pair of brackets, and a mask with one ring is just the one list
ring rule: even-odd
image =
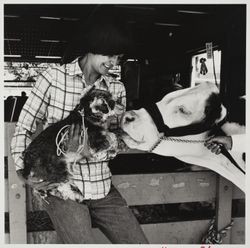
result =
[[[91,22],[92,21],[92,22]],[[23,169],[22,152],[31,142],[37,122],[51,125],[64,119],[79,103],[89,85],[111,92],[116,101],[115,112],[126,109],[126,92],[122,82],[109,75],[131,45],[129,32],[119,20],[94,16],[84,29],[83,56],[70,63],[47,69],[38,78],[17,122],[11,151],[17,174]],[[118,120],[117,120],[118,121]],[[71,127],[69,149],[74,149],[79,127]],[[63,243],[94,243],[92,222],[112,243],[148,243],[139,223],[126,201],[111,182],[108,159],[83,160],[73,171],[73,179],[84,201],[77,203],[48,196],[44,201],[54,228]],[[22,180],[24,180],[22,178]],[[31,187],[53,187],[25,180]]]

